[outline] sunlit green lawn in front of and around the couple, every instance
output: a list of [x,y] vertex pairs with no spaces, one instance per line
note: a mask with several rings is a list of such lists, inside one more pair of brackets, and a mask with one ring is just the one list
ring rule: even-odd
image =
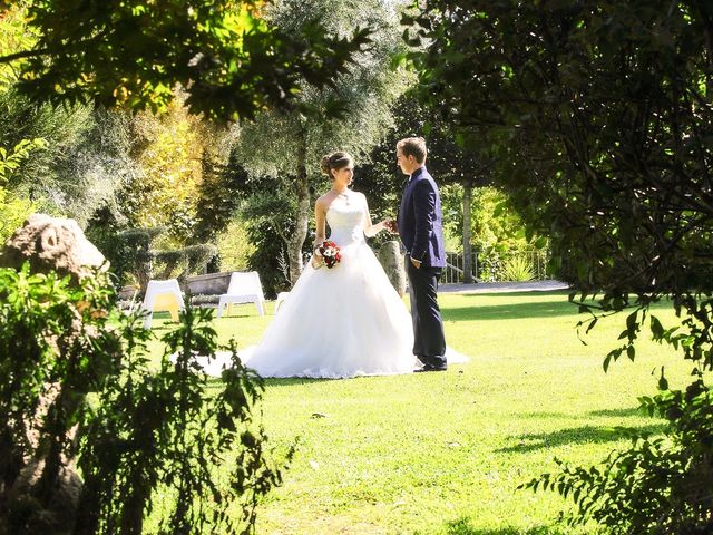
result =
[[[556,468],[590,465],[660,431],[636,410],[662,364],[672,388],[690,364],[642,341],[636,362],[602,369],[624,318],[577,338],[566,293],[440,296],[447,340],[468,354],[445,373],[350,380],[268,380],[264,425],[277,451],[299,439],[284,485],[262,505],[263,534],[595,534],[559,527],[568,503],[516,487]],[[658,312],[673,322],[667,309]],[[215,320],[222,341],[256,343],[272,315],[250,305]],[[162,329],[162,327],[159,327]]]

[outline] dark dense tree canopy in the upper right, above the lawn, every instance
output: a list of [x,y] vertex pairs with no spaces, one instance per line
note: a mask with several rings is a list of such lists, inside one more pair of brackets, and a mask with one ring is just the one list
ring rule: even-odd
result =
[[440,17],[449,6],[418,18],[423,97],[492,147],[555,264],[593,291],[710,289],[711,7],[476,0]]

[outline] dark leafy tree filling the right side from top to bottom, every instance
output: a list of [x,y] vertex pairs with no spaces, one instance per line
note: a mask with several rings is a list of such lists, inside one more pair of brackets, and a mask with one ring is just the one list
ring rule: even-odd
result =
[[[445,99],[453,120],[498,148],[497,182],[569,266],[588,329],[633,309],[605,369],[635,358],[645,321],[695,366],[685,392],[670,391],[662,370],[646,403],[668,419],[666,440],[544,481],[577,489],[580,519],[627,533],[711,529],[701,489],[713,485],[702,378],[713,369],[712,21],[710,3],[662,0],[430,0],[411,19],[429,41],[414,58],[424,98]],[[681,318],[670,329],[649,312],[667,296]]]

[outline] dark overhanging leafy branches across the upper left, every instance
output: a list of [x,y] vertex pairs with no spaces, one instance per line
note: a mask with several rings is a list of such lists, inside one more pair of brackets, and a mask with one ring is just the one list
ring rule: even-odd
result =
[[31,46],[0,56],[32,101],[159,111],[186,88],[193,114],[234,120],[287,106],[301,80],[329,84],[369,41],[310,20],[270,26],[263,0],[27,0]]

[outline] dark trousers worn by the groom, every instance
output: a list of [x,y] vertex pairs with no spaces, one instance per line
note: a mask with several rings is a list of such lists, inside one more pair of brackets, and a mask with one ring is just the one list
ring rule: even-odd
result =
[[446,364],[446,337],[438,307],[438,280],[441,268],[421,265],[417,269],[406,255],[409,276],[411,318],[413,320],[413,354],[424,364]]

